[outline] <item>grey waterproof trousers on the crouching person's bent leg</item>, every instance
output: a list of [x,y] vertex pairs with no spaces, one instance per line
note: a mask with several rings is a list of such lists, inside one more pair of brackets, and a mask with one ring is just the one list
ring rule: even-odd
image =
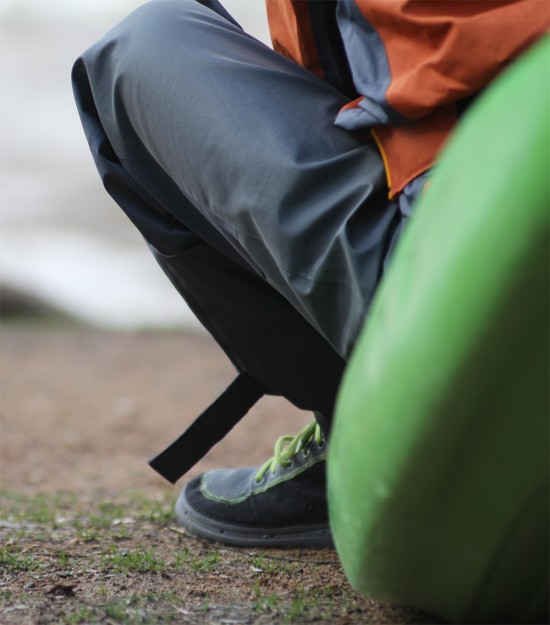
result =
[[204,325],[298,395],[313,370],[319,406],[267,386],[328,411],[409,206],[334,126],[349,96],[197,0],[138,8],[73,85],[106,189]]

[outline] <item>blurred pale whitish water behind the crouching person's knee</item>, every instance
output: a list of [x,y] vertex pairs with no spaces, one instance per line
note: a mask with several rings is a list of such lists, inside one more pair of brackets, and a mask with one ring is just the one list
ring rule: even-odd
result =
[[[198,327],[103,191],[70,86],[78,54],[142,2],[0,0],[0,281],[109,328]],[[263,0],[225,0],[269,43]]]

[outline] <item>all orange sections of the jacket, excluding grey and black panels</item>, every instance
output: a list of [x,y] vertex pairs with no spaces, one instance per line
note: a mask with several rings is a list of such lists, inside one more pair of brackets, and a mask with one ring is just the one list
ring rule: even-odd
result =
[[[550,28],[549,0],[345,1],[355,2],[384,46],[391,81],[377,104],[415,120],[371,129],[390,197],[432,167],[457,121],[453,103],[484,89]],[[275,50],[322,76],[309,2],[266,5]],[[361,99],[343,110],[358,108]]]

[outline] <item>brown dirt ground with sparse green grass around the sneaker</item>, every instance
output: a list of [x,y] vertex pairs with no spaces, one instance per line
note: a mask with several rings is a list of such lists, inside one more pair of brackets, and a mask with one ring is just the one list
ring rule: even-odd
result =
[[[233,377],[202,334],[4,322],[0,623],[436,623],[349,586],[334,551],[216,548],[147,459]],[[256,465],[310,415],[264,398],[185,479]]]

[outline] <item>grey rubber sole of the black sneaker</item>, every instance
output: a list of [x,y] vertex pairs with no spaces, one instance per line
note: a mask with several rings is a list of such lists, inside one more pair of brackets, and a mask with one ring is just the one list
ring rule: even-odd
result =
[[332,533],[326,524],[301,525],[299,527],[241,527],[210,519],[191,508],[185,489],[176,501],[178,525],[192,536],[208,542],[235,547],[333,549]]

